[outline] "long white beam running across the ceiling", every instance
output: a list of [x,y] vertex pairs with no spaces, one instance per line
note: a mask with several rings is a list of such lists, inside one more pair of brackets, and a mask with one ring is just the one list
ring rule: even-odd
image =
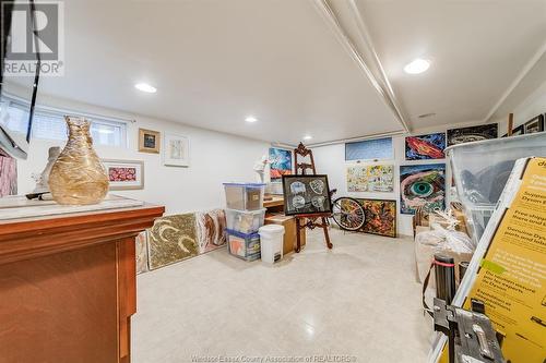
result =
[[[366,63],[364,57],[359,52],[358,48],[355,46],[353,40],[349,38],[347,35],[347,32],[343,28],[341,25],[337,16],[335,16],[334,12],[332,11],[332,8],[330,7],[328,0],[313,0],[313,3],[316,5],[316,9],[319,11],[319,13],[322,15],[324,21],[329,24],[330,28],[334,32],[337,40],[341,43],[341,45],[345,48],[345,50],[349,53],[351,58],[356,62],[360,71],[363,71],[364,75],[368,78],[370,82],[371,86],[376,89],[378,95],[381,97],[381,99],[384,101],[387,107],[389,107],[392,112],[394,113],[395,119],[399,121],[400,125],[404,130],[404,132],[410,132],[410,126],[406,121],[406,118],[404,117],[403,112],[401,111],[401,107],[399,106],[399,101],[396,100],[396,97],[394,95],[394,92],[392,90],[391,84],[389,80],[387,78],[387,74],[384,73],[384,70],[381,65],[381,62],[379,60],[379,57],[373,48],[373,45],[371,43],[371,38],[369,36],[369,33],[367,31],[366,24],[364,23],[360,13],[358,11],[358,8],[356,7],[356,3],[351,0],[349,1],[349,8],[353,13],[353,16],[355,19],[355,22],[357,23],[358,27],[358,35],[361,37],[363,44],[367,46],[370,51],[370,53],[373,55],[375,62],[377,63],[377,68],[380,70],[381,74],[381,80],[378,80],[376,75],[371,72],[369,65]],[[384,87],[383,87],[384,85]]]

